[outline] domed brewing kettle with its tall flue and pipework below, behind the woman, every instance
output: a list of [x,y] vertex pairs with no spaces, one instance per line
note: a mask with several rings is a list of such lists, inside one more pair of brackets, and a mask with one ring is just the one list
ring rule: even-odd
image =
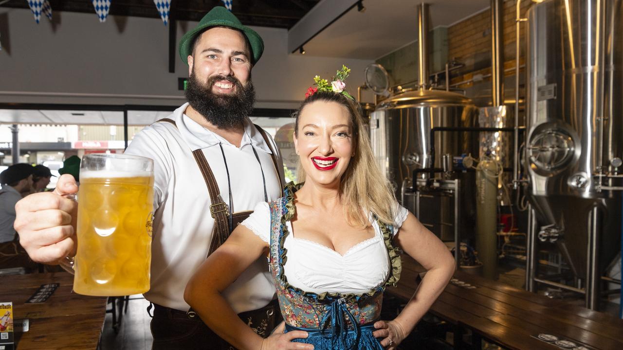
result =
[[[458,247],[459,226],[467,230],[474,226],[465,225],[474,216],[470,211],[474,205],[469,202],[474,196],[459,196],[464,191],[460,183],[473,182],[474,173],[453,175],[453,179],[449,174],[460,170],[455,169],[455,157],[478,154],[478,134],[464,131],[476,126],[478,109],[463,95],[430,89],[427,21],[428,5],[421,4],[417,87],[402,89],[377,105],[370,115],[370,136],[374,155],[399,201],[440,238],[452,240]],[[371,71],[366,70],[366,77],[374,76]],[[473,190],[473,186],[468,188]],[[421,207],[429,210],[424,212]],[[459,213],[459,208],[467,210]],[[458,254],[456,258],[458,261]]]

